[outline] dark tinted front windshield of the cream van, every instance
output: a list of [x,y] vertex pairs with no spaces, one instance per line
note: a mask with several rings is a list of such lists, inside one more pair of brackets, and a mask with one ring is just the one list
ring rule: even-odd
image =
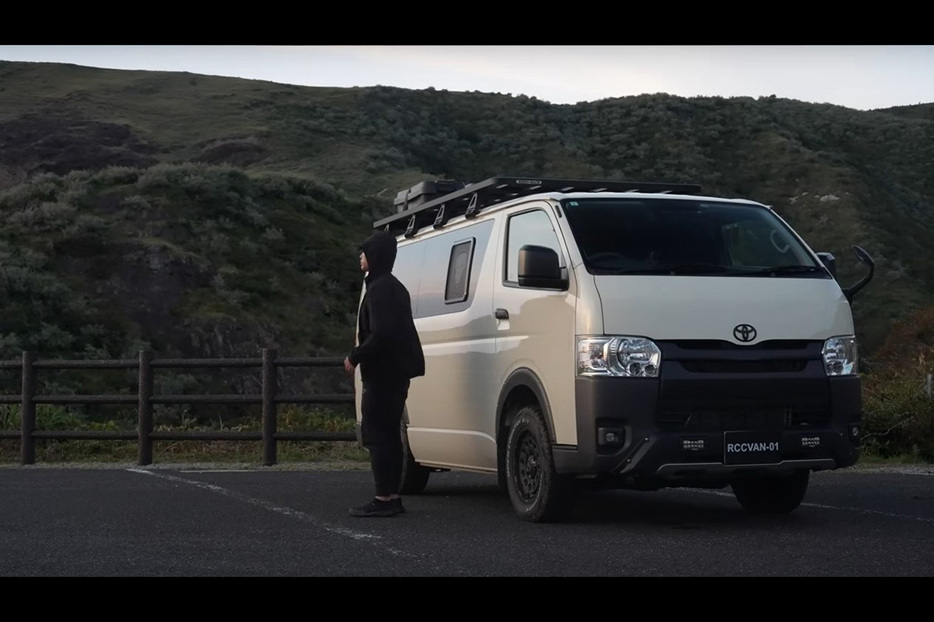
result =
[[592,274],[831,278],[764,206],[600,197],[562,205]]

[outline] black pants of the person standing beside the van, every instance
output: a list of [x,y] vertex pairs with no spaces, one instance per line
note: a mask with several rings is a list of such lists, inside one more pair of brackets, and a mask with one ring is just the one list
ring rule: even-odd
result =
[[364,384],[360,403],[360,437],[370,453],[376,496],[399,492],[402,484],[402,413],[409,381]]

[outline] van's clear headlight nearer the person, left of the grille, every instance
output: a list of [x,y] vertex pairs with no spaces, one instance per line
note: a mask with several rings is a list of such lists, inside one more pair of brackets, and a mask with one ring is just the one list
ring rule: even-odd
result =
[[577,373],[581,376],[656,378],[662,352],[644,337],[578,337]]

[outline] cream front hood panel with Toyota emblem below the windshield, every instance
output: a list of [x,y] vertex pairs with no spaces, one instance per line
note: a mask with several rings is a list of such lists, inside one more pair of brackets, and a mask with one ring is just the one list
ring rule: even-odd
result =
[[[853,334],[850,305],[833,279],[594,276],[604,333],[651,339],[771,339]],[[599,326],[597,322],[590,326]],[[746,328],[737,328],[745,325]],[[751,327],[750,330],[748,327]],[[754,331],[754,332],[753,332]],[[746,338],[748,341],[743,341]]]

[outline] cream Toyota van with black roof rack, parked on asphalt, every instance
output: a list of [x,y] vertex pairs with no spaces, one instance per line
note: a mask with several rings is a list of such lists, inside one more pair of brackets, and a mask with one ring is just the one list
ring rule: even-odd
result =
[[373,227],[397,236],[425,352],[403,494],[469,471],[531,522],[608,488],[787,513],[812,471],[857,461],[858,246],[868,273],[841,287],[768,205],[626,181],[423,182]]

